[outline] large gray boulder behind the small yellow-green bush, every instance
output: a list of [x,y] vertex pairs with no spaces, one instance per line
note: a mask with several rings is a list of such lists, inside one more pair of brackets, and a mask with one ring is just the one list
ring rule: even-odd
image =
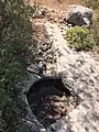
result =
[[67,8],[66,21],[73,25],[87,25],[92,23],[92,10],[79,4],[70,4]]

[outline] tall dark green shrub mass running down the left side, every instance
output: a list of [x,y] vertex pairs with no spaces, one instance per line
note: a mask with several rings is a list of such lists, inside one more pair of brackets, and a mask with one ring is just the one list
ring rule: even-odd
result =
[[0,132],[14,132],[23,112],[18,94],[26,77],[29,46],[34,45],[31,13],[23,0],[0,0]]

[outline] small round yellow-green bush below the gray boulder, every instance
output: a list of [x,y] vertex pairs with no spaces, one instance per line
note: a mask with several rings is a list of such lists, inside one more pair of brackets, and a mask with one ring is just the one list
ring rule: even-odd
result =
[[95,46],[94,35],[90,30],[82,26],[75,26],[67,31],[66,38],[69,46],[77,50],[91,50]]

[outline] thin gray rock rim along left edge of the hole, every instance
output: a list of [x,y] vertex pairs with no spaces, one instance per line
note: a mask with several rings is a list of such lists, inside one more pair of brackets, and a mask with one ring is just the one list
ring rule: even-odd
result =
[[[25,116],[23,118],[23,121],[25,122],[25,124],[20,128],[18,131],[23,132],[25,130],[25,132],[45,132],[43,125],[38,122],[37,118],[34,116],[34,113],[32,112],[30,105],[28,102],[28,92],[30,90],[30,88],[32,87],[32,85],[37,81],[41,77],[37,75],[38,70],[37,67],[35,65],[31,65],[30,66],[30,73],[29,74],[29,78],[28,80],[24,80],[24,89],[22,89],[22,94],[19,95],[19,103],[21,105],[21,107],[24,109],[25,111]],[[16,132],[18,132],[16,131]]]

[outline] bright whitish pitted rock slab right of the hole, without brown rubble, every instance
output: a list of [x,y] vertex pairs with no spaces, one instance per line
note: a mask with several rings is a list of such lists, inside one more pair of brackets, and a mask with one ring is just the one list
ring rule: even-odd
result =
[[57,25],[46,23],[47,32],[57,52],[57,74],[81,99],[77,109],[52,124],[48,132],[98,132],[99,131],[99,62],[91,53],[70,50]]

